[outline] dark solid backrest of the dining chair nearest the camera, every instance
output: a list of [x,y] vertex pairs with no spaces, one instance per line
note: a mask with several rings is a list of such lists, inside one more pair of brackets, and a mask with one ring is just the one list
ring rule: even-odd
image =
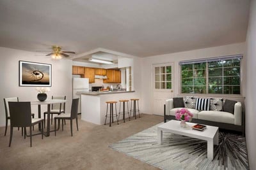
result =
[[30,102],[9,102],[12,127],[28,127],[31,125]]

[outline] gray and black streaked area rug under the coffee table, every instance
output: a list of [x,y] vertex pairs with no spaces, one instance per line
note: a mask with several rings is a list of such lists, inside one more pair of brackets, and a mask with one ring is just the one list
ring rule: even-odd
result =
[[157,126],[161,124],[109,147],[160,169],[249,169],[243,136],[220,131],[214,159],[209,160],[207,143],[200,139],[163,132],[163,145],[158,145]]

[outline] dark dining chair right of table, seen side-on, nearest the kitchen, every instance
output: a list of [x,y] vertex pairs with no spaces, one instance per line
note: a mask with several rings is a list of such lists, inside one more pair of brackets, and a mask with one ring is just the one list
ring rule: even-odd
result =
[[[71,136],[73,136],[72,120],[76,118],[76,127],[78,131],[78,122],[77,122],[78,103],[79,103],[79,99],[72,99],[71,113],[61,113],[60,115],[57,115],[56,117],[54,117],[55,136],[56,136],[56,120],[57,119],[58,119],[58,129],[60,129],[60,120],[70,120],[70,131],[71,131]],[[63,131],[63,123],[62,123],[62,131]]]

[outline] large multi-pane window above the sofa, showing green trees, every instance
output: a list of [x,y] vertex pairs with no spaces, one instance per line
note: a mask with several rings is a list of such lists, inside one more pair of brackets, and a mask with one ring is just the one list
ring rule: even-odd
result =
[[180,62],[181,92],[195,94],[241,94],[242,55]]

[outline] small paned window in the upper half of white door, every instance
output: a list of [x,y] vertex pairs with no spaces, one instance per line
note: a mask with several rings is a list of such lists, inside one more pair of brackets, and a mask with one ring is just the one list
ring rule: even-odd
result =
[[172,66],[155,67],[155,89],[172,89]]

